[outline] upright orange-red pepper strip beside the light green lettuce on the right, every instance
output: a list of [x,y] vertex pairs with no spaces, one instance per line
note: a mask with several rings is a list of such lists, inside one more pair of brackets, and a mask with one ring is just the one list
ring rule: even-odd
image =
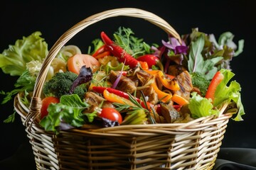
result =
[[210,85],[206,91],[206,96],[205,96],[206,98],[211,98],[212,102],[213,102],[216,88],[223,79],[224,79],[224,75],[220,71],[215,73],[215,75],[214,75],[213,79],[210,81]]

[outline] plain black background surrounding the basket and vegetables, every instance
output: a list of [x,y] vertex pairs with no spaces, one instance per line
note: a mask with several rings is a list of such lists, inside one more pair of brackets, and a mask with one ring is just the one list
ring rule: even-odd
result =
[[[245,115],[242,122],[230,120],[221,147],[256,148],[256,114],[255,114],[255,1],[226,0],[226,1],[1,1],[0,4],[0,52],[14,45],[17,39],[28,36],[36,30],[41,31],[42,37],[48,43],[48,49],[58,40],[60,35],[92,14],[112,8],[134,7],[151,11],[164,18],[182,35],[191,33],[191,28],[199,28],[204,33],[213,33],[216,38],[230,31],[235,35],[234,41],[245,40],[244,52],[234,57],[231,68],[235,79],[242,86],[242,103]],[[160,43],[166,39],[166,33],[151,23],[139,18],[115,17],[100,21],[85,28],[68,44],[75,44],[82,52],[99,38],[100,31],[113,33],[119,26],[132,28],[137,37],[145,42]],[[3,74],[0,70],[0,90],[11,91],[17,77]],[[1,100],[2,100],[1,96]],[[28,169],[33,166],[33,155],[26,137],[26,132],[18,114],[15,123],[5,124],[3,120],[14,112],[13,103],[0,106],[0,161],[21,155],[14,164]],[[28,158],[28,159],[26,159]],[[32,161],[31,161],[32,160]],[[26,162],[27,161],[27,162]],[[27,164],[25,166],[25,164]],[[10,164],[11,169],[12,165]],[[22,169],[22,168],[21,168]],[[36,169],[36,168],[35,168]]]

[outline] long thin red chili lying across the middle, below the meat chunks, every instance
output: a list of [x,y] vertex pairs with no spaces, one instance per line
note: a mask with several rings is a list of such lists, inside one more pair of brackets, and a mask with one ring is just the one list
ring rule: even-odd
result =
[[[125,93],[124,91],[119,91],[117,89],[112,89],[110,87],[103,87],[103,86],[93,86],[92,90],[96,91],[97,93],[103,94],[104,90],[107,90],[108,92],[112,94],[116,94],[117,96],[121,96],[123,98],[129,99],[129,94]],[[146,108],[144,105],[144,102],[140,100],[139,98],[136,98],[137,102],[142,105],[143,108]],[[151,103],[146,102],[147,108],[150,109]]]

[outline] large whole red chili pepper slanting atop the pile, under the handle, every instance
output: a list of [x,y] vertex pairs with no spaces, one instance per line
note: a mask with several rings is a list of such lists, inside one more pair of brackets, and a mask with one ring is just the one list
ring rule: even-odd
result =
[[125,62],[126,65],[129,65],[130,68],[137,67],[139,61],[137,61],[132,55],[129,55],[122,47],[115,44],[103,31],[100,34],[102,41],[105,43],[107,50],[109,50],[112,55],[117,57],[119,62]]

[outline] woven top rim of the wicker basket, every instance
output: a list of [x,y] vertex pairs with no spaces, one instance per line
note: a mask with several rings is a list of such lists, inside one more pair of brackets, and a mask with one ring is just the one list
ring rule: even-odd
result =
[[[21,115],[22,118],[26,119],[28,115],[29,108],[27,108],[21,101],[22,93],[19,93],[14,98],[14,108],[16,112]],[[22,109],[21,109],[22,108]],[[148,129],[153,130],[153,132],[160,132],[163,130],[171,130],[177,133],[185,133],[185,132],[195,132],[198,130],[203,130],[208,128],[209,126],[218,125],[225,121],[228,121],[232,117],[233,113],[223,113],[220,116],[216,117],[216,115],[208,115],[206,117],[197,118],[189,121],[188,123],[157,123],[157,124],[146,124],[146,125],[122,125],[122,126],[114,126],[107,128],[99,128],[95,125],[83,125],[81,128],[73,128],[70,130],[63,130],[63,132],[81,132],[81,133],[90,133],[90,134],[106,134],[111,133],[113,131],[119,130],[132,130],[132,129]],[[36,122],[35,122],[36,121]],[[40,119],[36,118],[31,123],[38,125]],[[39,126],[39,125],[38,125]],[[39,127],[41,128],[41,127]],[[41,128],[41,130],[44,130]],[[61,131],[60,131],[61,132]],[[132,134],[132,132],[131,132]]]

